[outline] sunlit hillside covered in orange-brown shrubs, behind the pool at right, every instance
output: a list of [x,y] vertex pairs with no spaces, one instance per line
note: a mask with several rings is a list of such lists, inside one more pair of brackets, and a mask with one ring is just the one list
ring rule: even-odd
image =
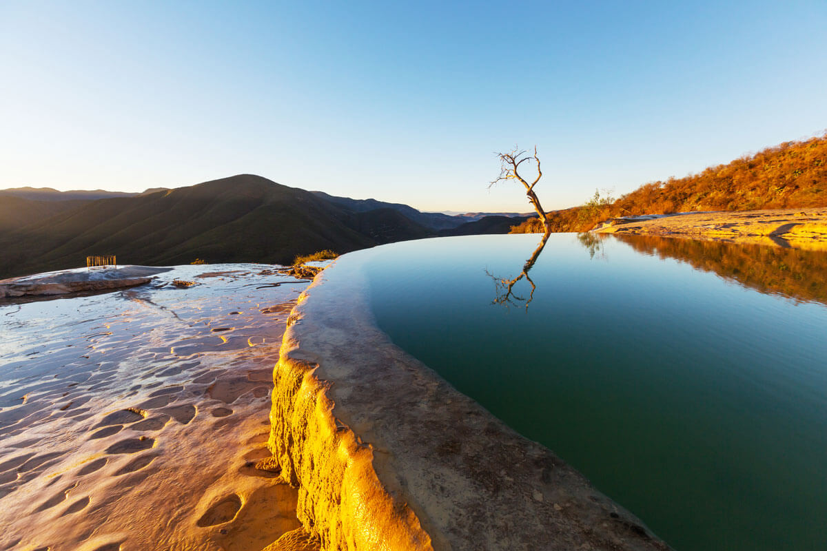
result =
[[[804,207],[827,207],[827,134],[784,142],[686,178],[646,183],[616,201],[595,195],[548,219],[554,231],[585,231],[616,216]],[[533,224],[514,231],[533,230]]]

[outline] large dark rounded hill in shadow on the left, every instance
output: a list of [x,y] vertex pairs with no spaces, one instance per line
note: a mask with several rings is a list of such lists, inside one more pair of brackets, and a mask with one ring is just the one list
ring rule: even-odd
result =
[[84,202],[0,234],[0,278],[83,265],[87,254],[122,264],[267,262],[345,253],[433,231],[393,209],[354,212],[266,178],[243,174],[136,197]]

